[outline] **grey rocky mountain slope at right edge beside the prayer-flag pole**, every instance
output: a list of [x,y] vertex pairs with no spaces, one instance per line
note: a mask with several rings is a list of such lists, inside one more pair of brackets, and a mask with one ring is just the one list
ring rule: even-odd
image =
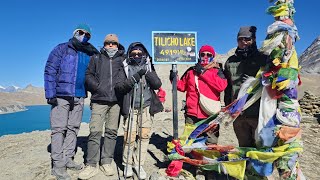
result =
[[304,74],[320,74],[320,36],[302,53],[299,58]]

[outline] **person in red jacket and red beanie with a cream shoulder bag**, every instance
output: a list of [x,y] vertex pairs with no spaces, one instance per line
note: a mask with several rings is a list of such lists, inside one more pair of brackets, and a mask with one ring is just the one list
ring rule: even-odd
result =
[[[227,87],[222,69],[219,64],[214,61],[215,51],[212,46],[204,45],[199,51],[198,63],[189,68],[177,81],[177,89],[181,92],[186,92],[186,112],[185,123],[194,124],[200,120],[209,117],[200,107],[199,91],[204,96],[220,101],[220,93]],[[195,83],[195,76],[198,76],[198,88]],[[170,72],[170,80],[172,81],[175,74]],[[214,130],[214,133],[207,133],[208,143],[216,144],[219,137],[219,127]]]

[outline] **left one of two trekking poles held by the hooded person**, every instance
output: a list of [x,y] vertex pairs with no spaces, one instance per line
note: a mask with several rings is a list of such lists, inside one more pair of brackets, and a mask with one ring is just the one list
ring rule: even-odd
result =
[[126,162],[126,171],[124,174],[124,179],[127,179],[127,173],[128,173],[128,164],[129,164],[129,154],[130,154],[130,144],[131,144],[131,133],[132,133],[132,121],[133,121],[133,116],[134,116],[134,102],[136,100],[136,91],[138,88],[138,84],[134,84],[133,88],[133,97],[130,99],[130,112],[129,112],[129,121],[128,121],[128,126],[127,126],[127,135],[126,139],[128,141],[128,152],[127,152],[127,162]]

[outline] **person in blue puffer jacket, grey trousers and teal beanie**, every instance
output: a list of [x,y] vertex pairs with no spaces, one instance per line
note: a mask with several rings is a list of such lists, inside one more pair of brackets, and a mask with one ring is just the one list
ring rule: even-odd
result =
[[90,37],[90,27],[80,24],[73,38],[51,51],[44,71],[45,96],[52,105],[52,175],[57,179],[71,179],[66,168],[82,168],[73,157],[86,97],[85,71],[90,56],[99,53],[88,43]]

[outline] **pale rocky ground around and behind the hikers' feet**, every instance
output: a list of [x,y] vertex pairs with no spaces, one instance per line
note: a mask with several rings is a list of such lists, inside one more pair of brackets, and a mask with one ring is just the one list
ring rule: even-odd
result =
[[[149,155],[145,164],[147,173],[158,175],[164,173],[167,167],[166,142],[171,140],[172,114],[160,113],[156,116],[154,133],[149,145]],[[183,130],[182,115],[179,114],[179,133]],[[308,179],[320,179],[320,126],[314,118],[305,117],[302,123],[304,153],[301,157],[301,167]],[[232,126],[222,126],[219,144],[237,145],[236,137]],[[83,123],[78,136],[78,146],[75,161],[83,163],[86,155],[87,135],[89,134],[88,124]],[[121,165],[121,143],[123,136],[119,133],[118,143],[115,151],[115,161],[118,165],[118,174],[113,177],[106,177],[99,172],[92,180],[119,179],[123,172]],[[19,135],[7,135],[0,137],[0,179],[3,180],[53,180],[50,175],[50,131],[35,131]],[[116,165],[114,164],[114,167]],[[72,179],[77,179],[77,171],[69,171]],[[158,173],[158,174],[157,174]],[[137,179],[137,178],[134,178]]]

